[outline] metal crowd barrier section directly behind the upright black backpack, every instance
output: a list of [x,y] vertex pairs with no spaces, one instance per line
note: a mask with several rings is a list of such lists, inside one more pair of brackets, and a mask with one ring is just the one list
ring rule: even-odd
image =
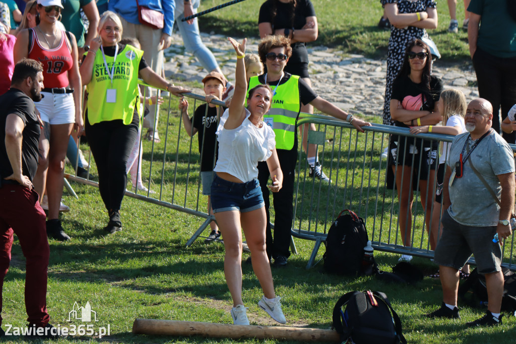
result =
[[[302,126],[304,123],[314,123],[317,127],[316,132],[308,133],[308,143],[317,145],[322,170],[331,179],[330,183],[325,183],[308,176],[308,165],[306,159],[302,158],[305,154],[300,147],[292,235],[296,238],[315,241],[307,269],[320,261],[318,259],[319,247],[326,240],[333,220],[344,209],[350,209],[364,218],[369,239],[372,240],[375,249],[433,258],[433,251],[428,240],[427,224],[424,221],[425,211],[421,204],[421,191],[431,193],[433,200],[435,192],[429,190],[429,185],[431,185],[432,178],[433,183],[436,183],[437,174],[430,175],[429,172],[425,174],[415,168],[417,161],[414,160],[417,155],[408,153],[406,159],[412,159],[409,161],[410,167],[406,168],[405,172],[401,172],[401,176],[399,176],[394,170],[402,169],[393,169],[388,160],[381,158],[381,153],[389,147],[389,137],[393,134],[398,135],[397,143],[403,143],[406,149],[410,149],[410,142],[414,137],[437,143],[451,142],[453,136],[412,135],[408,129],[382,124],[364,127],[365,133],[359,133],[348,123],[331,117],[307,114],[301,115],[298,126]],[[417,141],[414,146],[412,149],[425,151],[425,147],[418,144]],[[510,146],[516,152],[516,146]],[[400,216],[402,207],[394,186],[395,183],[391,185],[387,182],[386,172],[388,169],[391,169],[391,177],[394,179],[400,177],[401,180],[405,180],[412,174],[415,176],[413,188],[420,190],[414,192],[405,190],[406,194],[413,195],[412,216],[409,218],[405,215],[406,222],[410,222],[412,225],[411,235],[407,238],[409,246],[404,246],[401,237],[399,222],[402,220]],[[410,171],[409,175],[405,175],[408,173],[407,170]],[[426,189],[418,182],[420,179],[427,179]],[[401,190],[401,194],[403,193],[404,190]],[[433,202],[430,207],[426,208],[433,211]],[[442,211],[442,208],[440,207],[438,210]],[[440,221],[437,224],[435,222],[430,219],[430,228],[433,227],[433,224],[437,225],[439,231],[442,230]],[[510,269],[516,268],[512,260],[513,241],[514,237],[512,236],[510,240],[506,240],[503,246],[503,265]],[[474,262],[474,258],[472,258],[470,263],[474,264]]]

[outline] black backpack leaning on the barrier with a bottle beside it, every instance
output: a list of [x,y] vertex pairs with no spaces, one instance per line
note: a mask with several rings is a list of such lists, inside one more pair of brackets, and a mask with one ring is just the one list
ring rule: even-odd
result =
[[[362,274],[364,247],[368,241],[364,219],[351,210],[343,210],[331,224],[323,256],[324,270],[331,274]],[[373,273],[377,271],[373,260]]]

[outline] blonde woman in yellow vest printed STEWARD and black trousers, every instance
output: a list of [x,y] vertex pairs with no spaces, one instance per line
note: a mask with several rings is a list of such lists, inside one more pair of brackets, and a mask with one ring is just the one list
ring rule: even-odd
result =
[[143,51],[120,44],[122,23],[118,15],[106,11],[100,18],[99,36],[90,49],[80,75],[88,90],[86,137],[99,174],[99,191],[109,214],[104,230],[122,229],[120,207],[127,186],[127,161],[135,145],[141,115],[138,77],[147,84],[167,89],[174,96],[189,90],[173,86],[156,74],[143,59]]

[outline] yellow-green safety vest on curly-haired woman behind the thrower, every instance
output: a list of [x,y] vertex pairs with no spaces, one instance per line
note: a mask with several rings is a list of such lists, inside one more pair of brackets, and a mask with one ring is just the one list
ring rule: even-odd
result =
[[[248,92],[259,84],[258,76],[251,77]],[[275,86],[271,88],[275,90]],[[276,134],[276,149],[291,150],[294,147],[296,121],[300,111],[299,76],[291,75],[287,82],[276,87],[270,110],[263,116],[263,121],[271,126]]]

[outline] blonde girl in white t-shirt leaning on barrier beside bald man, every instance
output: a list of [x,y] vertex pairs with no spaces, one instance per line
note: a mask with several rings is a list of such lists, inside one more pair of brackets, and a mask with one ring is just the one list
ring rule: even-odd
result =
[[[444,126],[422,126],[412,127],[410,132],[412,134],[418,133],[438,133],[446,135],[459,135],[466,131],[464,126],[464,115],[466,114],[466,97],[462,91],[457,89],[446,89],[441,92],[441,97],[437,102],[439,113],[443,115],[441,123],[445,123]],[[440,237],[440,224],[441,215],[444,209],[441,209],[442,190],[444,173],[446,170],[446,159],[450,150],[451,144],[444,142],[442,143],[442,150],[439,154],[439,168],[437,170],[437,187],[436,187],[436,198],[433,202],[432,219],[430,225],[430,232],[428,234],[430,240],[430,248],[435,249],[437,241]],[[428,228],[427,228],[428,230]]]

